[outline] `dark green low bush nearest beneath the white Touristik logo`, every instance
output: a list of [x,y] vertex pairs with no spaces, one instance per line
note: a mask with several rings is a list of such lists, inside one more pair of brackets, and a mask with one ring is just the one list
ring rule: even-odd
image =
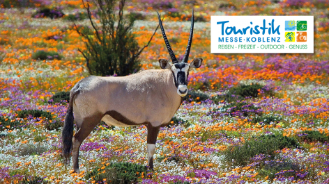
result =
[[261,88],[263,88],[263,85],[259,84],[240,85],[238,87],[230,88],[229,92],[241,97],[258,97]]

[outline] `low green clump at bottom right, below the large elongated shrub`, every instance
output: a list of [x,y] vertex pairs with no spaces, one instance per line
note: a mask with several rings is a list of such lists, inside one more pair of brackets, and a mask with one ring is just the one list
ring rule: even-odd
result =
[[282,171],[289,171],[284,172],[284,174],[280,174],[286,178],[289,178],[290,176],[294,176],[294,178],[297,178],[297,174],[301,173],[300,167],[296,164],[293,164],[292,162],[283,160],[283,161],[275,161],[271,160],[268,162],[262,169],[259,170],[260,176],[268,176],[270,180],[273,180],[275,178],[275,174]]

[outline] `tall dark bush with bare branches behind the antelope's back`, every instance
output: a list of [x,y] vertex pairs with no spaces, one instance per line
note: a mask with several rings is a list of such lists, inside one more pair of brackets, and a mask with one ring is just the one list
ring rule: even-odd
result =
[[[89,3],[92,3],[97,10],[96,17],[99,17],[101,24],[99,27],[91,18],[94,15],[91,13]],[[116,0],[99,0],[97,3],[89,1],[84,4],[93,27],[90,32],[93,34],[85,35],[79,31],[79,28],[75,28],[75,31],[86,40],[84,42],[86,49],[79,49],[79,52],[86,58],[86,66],[91,75],[126,76],[137,72],[141,67],[139,55],[150,42],[140,49],[135,35],[132,33],[136,17],[129,16],[129,19],[124,19],[125,0],[120,0],[119,4],[118,15],[116,15],[114,7]]]

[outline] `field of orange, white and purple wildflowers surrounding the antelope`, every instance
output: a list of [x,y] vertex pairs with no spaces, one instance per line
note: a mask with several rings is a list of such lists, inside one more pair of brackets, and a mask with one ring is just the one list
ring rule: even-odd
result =
[[[160,130],[153,171],[144,167],[146,126],[100,123],[82,143],[79,174],[63,165],[68,103],[54,94],[89,76],[73,27],[91,26],[82,1],[0,4],[0,183],[114,183],[128,175],[132,183],[329,183],[328,0],[126,1],[139,45],[158,26],[158,10],[179,59],[194,8],[190,58],[204,62]],[[212,54],[211,15],[313,15],[314,54]],[[160,58],[169,54],[158,30],[141,70],[160,69]]]

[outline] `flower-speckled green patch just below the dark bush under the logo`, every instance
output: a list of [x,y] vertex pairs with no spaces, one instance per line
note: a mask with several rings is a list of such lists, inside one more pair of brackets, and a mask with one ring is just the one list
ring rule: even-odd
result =
[[245,101],[229,103],[223,108],[226,109],[231,116],[242,114],[244,117],[248,117],[256,110],[259,110],[259,108],[255,107],[252,103],[247,103]]

